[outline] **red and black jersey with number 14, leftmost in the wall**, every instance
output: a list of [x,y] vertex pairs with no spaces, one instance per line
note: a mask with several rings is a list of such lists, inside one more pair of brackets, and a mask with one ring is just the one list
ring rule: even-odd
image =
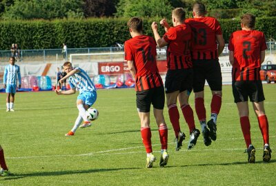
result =
[[156,42],[146,35],[125,42],[125,60],[135,65],[135,90],[142,91],[163,85],[156,61]]

